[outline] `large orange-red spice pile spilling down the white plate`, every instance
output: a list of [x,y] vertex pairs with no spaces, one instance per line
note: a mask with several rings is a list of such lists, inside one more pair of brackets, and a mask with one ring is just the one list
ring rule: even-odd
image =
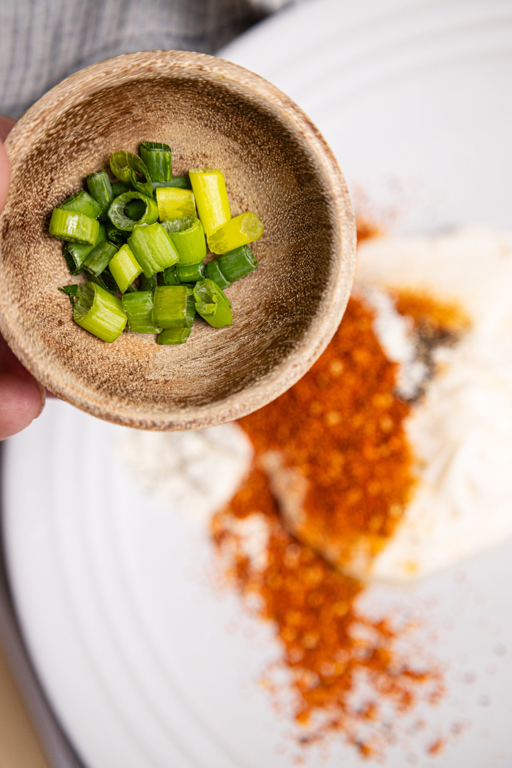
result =
[[[375,554],[400,519],[415,478],[404,430],[409,406],[395,395],[395,376],[395,364],[373,333],[372,313],[352,298],[306,376],[239,422],[255,447],[255,463],[213,520],[213,538],[229,555],[239,590],[258,594],[259,614],[276,624],[292,673],[296,720],[308,728],[304,739],[338,730],[363,754],[375,743],[362,736],[361,724],[378,721],[383,701],[403,711],[420,690],[433,697],[441,691],[434,670],[415,670],[395,654],[390,623],[358,614],[355,601],[364,585],[315,551],[323,538],[334,538],[336,564],[342,565],[364,538]],[[300,540],[285,527],[263,470],[269,451],[307,481]],[[258,567],[233,525],[252,515],[266,521],[269,536]],[[372,693],[355,705],[352,694],[362,677]]]

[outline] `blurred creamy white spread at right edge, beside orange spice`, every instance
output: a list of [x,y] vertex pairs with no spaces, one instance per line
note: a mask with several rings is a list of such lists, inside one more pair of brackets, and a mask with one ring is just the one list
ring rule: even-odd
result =
[[512,535],[512,235],[467,227],[367,240],[358,252],[357,290],[375,309],[375,332],[399,363],[405,392],[421,372],[407,327],[382,322],[382,290],[457,303],[472,323],[455,346],[434,350],[436,372],[405,425],[418,460],[417,491],[369,574],[358,573],[401,581]]

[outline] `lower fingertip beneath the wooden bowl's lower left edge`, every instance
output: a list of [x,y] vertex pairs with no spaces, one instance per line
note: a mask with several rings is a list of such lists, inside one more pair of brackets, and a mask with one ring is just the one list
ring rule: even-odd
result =
[[31,376],[0,373],[0,440],[28,427],[44,405],[45,390]]

